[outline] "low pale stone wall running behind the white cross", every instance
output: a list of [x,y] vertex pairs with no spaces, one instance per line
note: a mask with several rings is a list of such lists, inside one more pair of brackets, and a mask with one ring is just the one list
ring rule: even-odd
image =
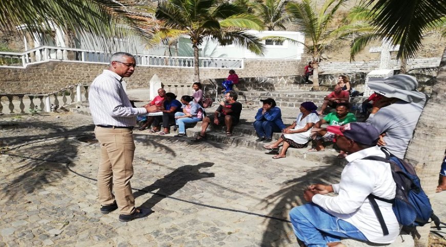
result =
[[[423,58],[411,59],[408,61],[408,70],[419,68],[433,68],[440,65],[441,58]],[[392,69],[399,70],[401,66],[400,61],[391,60],[390,65]],[[370,72],[379,68],[379,61],[370,62],[321,62],[320,69],[325,73],[333,72]]]

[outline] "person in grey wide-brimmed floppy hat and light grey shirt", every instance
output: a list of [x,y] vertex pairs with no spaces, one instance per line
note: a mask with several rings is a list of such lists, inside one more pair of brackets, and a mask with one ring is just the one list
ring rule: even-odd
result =
[[418,82],[409,75],[394,75],[368,83],[382,99],[372,108],[367,122],[381,134],[378,145],[402,159],[426,103],[426,95],[416,91]]

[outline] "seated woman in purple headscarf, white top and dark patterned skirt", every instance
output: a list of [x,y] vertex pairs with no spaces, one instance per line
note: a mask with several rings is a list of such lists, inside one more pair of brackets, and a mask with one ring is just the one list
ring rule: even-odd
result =
[[317,106],[313,102],[303,102],[300,104],[300,113],[297,115],[296,121],[283,130],[283,134],[277,142],[263,146],[267,149],[273,149],[278,148],[283,143],[282,150],[279,154],[274,155],[273,159],[285,158],[290,146],[295,148],[308,146],[308,142],[311,140],[311,128],[319,121],[316,109]]

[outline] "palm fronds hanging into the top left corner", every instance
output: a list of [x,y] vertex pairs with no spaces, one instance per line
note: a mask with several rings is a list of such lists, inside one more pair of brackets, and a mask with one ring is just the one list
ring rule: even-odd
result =
[[[110,50],[114,37],[142,38],[149,42],[153,21],[129,15],[128,6],[115,0],[2,0],[0,29],[16,34],[51,32],[56,25],[65,32],[76,32]],[[16,26],[26,26],[17,30]],[[17,31],[19,33],[17,33]]]

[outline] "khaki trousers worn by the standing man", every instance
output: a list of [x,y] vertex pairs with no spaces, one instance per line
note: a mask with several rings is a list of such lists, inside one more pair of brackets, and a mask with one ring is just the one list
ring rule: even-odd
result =
[[112,205],[116,200],[121,214],[132,214],[135,212],[135,198],[130,185],[135,153],[133,131],[96,126],[94,134],[100,144],[100,164],[97,172],[99,202],[106,206]]

